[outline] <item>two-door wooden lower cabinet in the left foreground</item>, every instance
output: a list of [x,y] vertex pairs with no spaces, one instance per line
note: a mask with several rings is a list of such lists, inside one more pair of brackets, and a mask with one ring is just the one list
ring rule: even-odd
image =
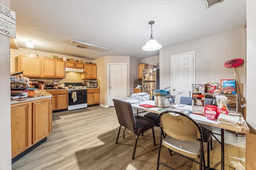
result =
[[51,98],[12,104],[12,158],[47,137],[51,129]]

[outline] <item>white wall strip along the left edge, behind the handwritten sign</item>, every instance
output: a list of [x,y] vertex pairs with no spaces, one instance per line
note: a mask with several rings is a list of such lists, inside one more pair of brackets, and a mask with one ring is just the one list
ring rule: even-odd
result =
[[[9,0],[0,4],[10,9]],[[11,170],[10,37],[0,34],[0,40],[0,170]]]

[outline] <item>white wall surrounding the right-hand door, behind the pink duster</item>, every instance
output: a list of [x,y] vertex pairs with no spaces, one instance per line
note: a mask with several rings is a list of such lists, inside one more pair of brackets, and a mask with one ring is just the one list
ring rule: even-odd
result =
[[[190,51],[196,51],[195,83],[234,79],[233,69],[223,64],[231,59],[244,59],[244,29],[239,27],[160,49],[160,89],[171,85],[171,55]],[[243,66],[236,69],[243,84]]]

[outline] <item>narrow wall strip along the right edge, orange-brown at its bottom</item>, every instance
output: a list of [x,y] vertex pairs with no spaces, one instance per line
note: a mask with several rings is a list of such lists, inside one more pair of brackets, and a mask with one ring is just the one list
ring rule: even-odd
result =
[[250,133],[246,134],[246,170],[256,169],[256,114],[255,114],[255,84],[256,84],[256,1],[247,1],[246,12],[246,121]]

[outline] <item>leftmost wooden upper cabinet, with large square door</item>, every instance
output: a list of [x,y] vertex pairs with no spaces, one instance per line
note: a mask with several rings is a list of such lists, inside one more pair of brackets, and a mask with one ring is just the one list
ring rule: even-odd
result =
[[41,77],[42,76],[42,58],[30,57],[26,55],[19,55],[18,70],[23,71],[24,76],[27,77]]

